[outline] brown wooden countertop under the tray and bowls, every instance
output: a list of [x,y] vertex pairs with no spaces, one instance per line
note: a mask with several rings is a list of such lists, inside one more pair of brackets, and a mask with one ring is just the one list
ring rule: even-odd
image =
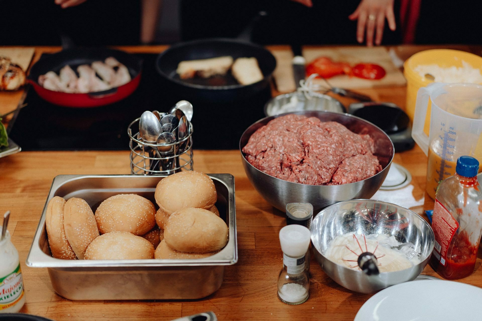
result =
[[[165,48],[121,47],[132,52],[161,52]],[[269,47],[270,50],[288,48]],[[405,59],[427,48],[400,46],[395,49]],[[480,48],[455,48],[480,54]],[[57,50],[38,47],[35,59],[41,52]],[[361,92],[379,101],[397,103],[402,107],[405,105],[404,87]],[[276,91],[273,93],[276,94]],[[14,108],[20,96],[21,92],[1,93],[0,115]],[[27,296],[27,303],[21,312],[58,321],[172,320],[211,310],[216,313],[218,320],[353,320],[371,295],[354,293],[339,286],[321,270],[313,255],[308,301],[299,306],[289,306],[279,301],[276,281],[282,268],[282,253],[278,232],[285,225],[284,213],[268,205],[254,190],[244,173],[240,157],[236,150],[194,152],[195,170],[231,173],[235,177],[239,261],[226,267],[224,282],[217,292],[193,301],[70,301],[55,294],[46,269],[28,268],[25,265],[54,177],[59,174],[129,174],[127,151],[21,152],[0,158],[0,212],[12,212],[9,230],[13,235],[13,244],[19,251]],[[433,208],[433,201],[423,192],[427,157],[420,148],[415,146],[411,151],[395,154],[393,162],[407,168],[412,174],[412,192],[404,195],[418,202],[412,209],[422,213],[424,207]],[[424,196],[425,205],[422,205]],[[482,287],[481,257],[479,251],[476,271],[459,282]],[[423,274],[438,276],[429,266]]]

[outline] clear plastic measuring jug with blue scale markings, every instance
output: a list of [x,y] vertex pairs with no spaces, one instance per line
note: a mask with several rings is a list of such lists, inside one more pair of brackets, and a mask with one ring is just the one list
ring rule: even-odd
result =
[[[429,101],[427,137],[423,127]],[[472,156],[482,163],[482,86],[433,83],[420,88],[412,137],[428,155],[425,189],[435,199],[439,181],[455,174],[459,156]]]

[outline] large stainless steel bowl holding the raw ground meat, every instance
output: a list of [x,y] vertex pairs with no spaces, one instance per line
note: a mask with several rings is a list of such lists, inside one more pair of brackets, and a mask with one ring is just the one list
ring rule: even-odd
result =
[[256,191],[258,191],[269,204],[283,212],[288,203],[311,203],[314,209],[313,213],[316,213],[321,208],[337,202],[372,197],[385,180],[393,159],[393,144],[387,134],[372,123],[348,114],[323,111],[305,111],[293,114],[317,117],[322,121],[336,121],[357,134],[370,135],[375,142],[374,154],[383,169],[368,179],[333,186],[293,183],[260,171],[246,160],[245,155],[242,153],[242,148],[248,143],[249,138],[258,128],[266,125],[275,117],[287,115],[282,114],[258,120],[248,127],[241,136],[240,151],[244,171]]

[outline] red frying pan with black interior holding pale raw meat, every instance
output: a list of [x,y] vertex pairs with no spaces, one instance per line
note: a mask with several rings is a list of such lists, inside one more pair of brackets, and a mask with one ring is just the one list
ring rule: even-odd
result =
[[[76,70],[80,64],[91,64],[94,61],[104,61],[107,57],[116,58],[129,70],[131,81],[120,87],[89,93],[67,93],[48,90],[40,86],[40,75],[54,71],[57,75],[65,65]],[[30,69],[28,82],[32,84],[37,94],[49,103],[65,107],[89,108],[118,102],[134,92],[141,79],[142,60],[124,51],[107,48],[71,48],[54,54],[45,55]]]

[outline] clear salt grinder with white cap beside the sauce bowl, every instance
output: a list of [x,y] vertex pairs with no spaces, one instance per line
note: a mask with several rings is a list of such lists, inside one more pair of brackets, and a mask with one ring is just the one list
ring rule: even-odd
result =
[[278,276],[278,298],[287,304],[301,304],[308,300],[309,277],[305,270],[305,255],[311,239],[310,231],[297,224],[280,231],[283,269]]

